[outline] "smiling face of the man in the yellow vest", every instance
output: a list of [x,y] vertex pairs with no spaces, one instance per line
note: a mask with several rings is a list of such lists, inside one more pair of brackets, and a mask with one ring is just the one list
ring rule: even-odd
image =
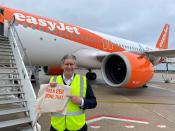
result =
[[63,70],[65,75],[72,76],[76,68],[76,63],[74,59],[65,59],[63,63]]

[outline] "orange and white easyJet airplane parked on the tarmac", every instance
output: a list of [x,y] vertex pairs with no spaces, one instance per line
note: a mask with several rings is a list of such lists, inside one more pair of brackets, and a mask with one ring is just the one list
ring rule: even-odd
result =
[[22,10],[0,6],[0,11],[1,35],[7,36],[8,23],[13,23],[32,65],[46,71],[61,70],[61,58],[73,54],[77,65],[89,70],[88,79],[95,80],[92,70],[101,69],[109,86],[135,89],[151,80],[155,65],[175,56],[174,49],[167,49],[168,24],[151,47]]

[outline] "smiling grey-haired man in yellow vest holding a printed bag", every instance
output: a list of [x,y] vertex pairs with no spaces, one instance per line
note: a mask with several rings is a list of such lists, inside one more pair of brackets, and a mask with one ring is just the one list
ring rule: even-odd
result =
[[[76,57],[65,55],[62,58],[63,74],[51,77],[50,86],[56,84],[69,85],[72,95],[67,107],[66,115],[52,113],[50,131],[87,131],[85,109],[95,108],[96,97],[85,76],[74,73],[76,68]],[[56,82],[56,83],[55,83]]]

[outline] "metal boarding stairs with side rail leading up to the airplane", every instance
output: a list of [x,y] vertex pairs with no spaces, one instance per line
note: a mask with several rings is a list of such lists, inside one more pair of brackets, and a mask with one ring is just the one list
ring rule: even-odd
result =
[[13,28],[0,36],[0,131],[38,131],[36,96]]

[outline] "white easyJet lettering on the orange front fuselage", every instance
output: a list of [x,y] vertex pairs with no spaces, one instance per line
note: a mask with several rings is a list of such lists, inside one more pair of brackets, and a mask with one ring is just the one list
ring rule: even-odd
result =
[[79,30],[75,26],[65,25],[61,22],[54,22],[45,20],[42,18],[36,18],[34,16],[24,15],[22,13],[14,13],[15,19],[21,22],[27,22],[28,24],[32,24],[35,26],[46,27],[50,31],[67,31],[69,33],[75,33],[77,35],[80,34]]

